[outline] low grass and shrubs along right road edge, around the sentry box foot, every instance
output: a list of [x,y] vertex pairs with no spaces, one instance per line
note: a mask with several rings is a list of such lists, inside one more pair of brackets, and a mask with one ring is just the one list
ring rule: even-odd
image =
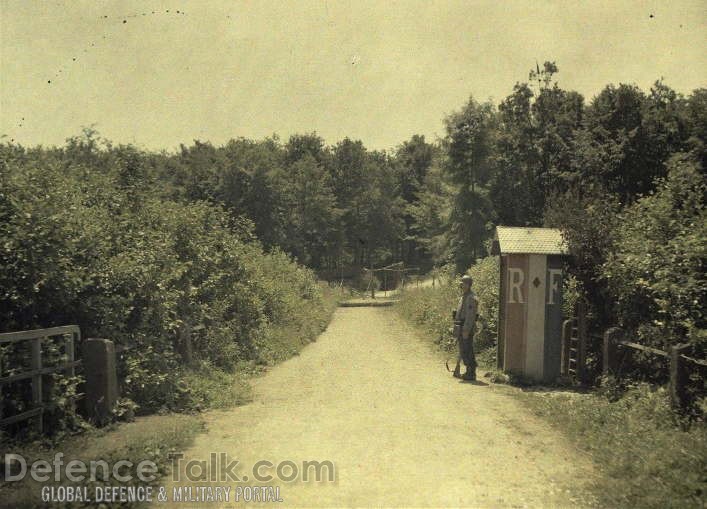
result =
[[[492,265],[498,274],[492,257],[468,272],[478,277],[484,270],[479,266]],[[449,332],[451,310],[459,296],[451,281],[435,288],[410,288],[396,305],[423,337],[450,354],[456,350]],[[486,291],[498,291],[497,284],[484,288],[482,281],[475,278],[474,284],[479,285],[475,289],[480,301]],[[482,305],[480,313],[483,323]],[[604,379],[595,391],[567,385],[526,388],[526,381],[496,370],[495,341],[487,341],[481,328],[474,341],[481,373],[489,372],[489,381],[516,385],[509,392],[512,397],[591,456],[600,470],[593,485],[600,507],[702,507],[707,499],[707,427],[701,420],[677,415],[664,387]]]

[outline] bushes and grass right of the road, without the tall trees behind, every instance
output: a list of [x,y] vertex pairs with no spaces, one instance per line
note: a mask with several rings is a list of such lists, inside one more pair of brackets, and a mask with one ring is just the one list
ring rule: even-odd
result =
[[[548,205],[547,224],[562,228],[574,254],[567,266],[564,312],[570,316],[573,302],[582,297],[591,306],[594,331],[617,324],[633,341],[660,349],[686,343],[704,358],[707,187],[694,154],[675,155],[665,167],[667,176],[654,181],[653,191],[624,206],[616,197],[591,193]],[[474,276],[482,319],[489,320],[484,300],[492,309],[494,335],[485,336],[481,328],[475,338],[481,367],[490,368],[494,382],[526,386],[488,362],[495,361],[490,345],[497,310],[491,306],[498,302],[498,280],[485,278],[487,271],[498,274],[493,257],[478,259],[466,271]],[[455,286],[411,288],[399,304],[404,317],[447,350],[454,347],[448,329],[458,298]],[[665,364],[634,356],[624,362],[620,378],[604,378],[596,371],[600,347],[589,345],[595,369],[591,387],[576,390],[565,383],[510,394],[590,454],[600,469],[594,489],[601,507],[702,507],[707,500],[704,373],[691,372],[692,404],[678,414],[665,387]]]

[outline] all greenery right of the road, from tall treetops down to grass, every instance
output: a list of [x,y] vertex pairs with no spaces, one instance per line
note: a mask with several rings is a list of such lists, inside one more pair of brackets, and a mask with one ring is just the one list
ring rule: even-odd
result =
[[[472,99],[448,118],[442,184],[430,188],[446,219],[428,222],[439,226],[429,245],[454,264],[451,272],[474,274],[490,263],[484,243],[495,225],[559,228],[572,255],[566,316],[581,298],[593,337],[619,326],[631,341],[661,350],[687,344],[689,356],[704,359],[706,91],[683,97],[662,82],[647,93],[609,85],[585,105],[559,87],[556,73],[546,62],[498,107]],[[451,349],[456,293],[410,289],[399,311]],[[494,351],[483,349],[485,341],[476,338],[482,362]],[[637,354],[616,379],[601,377],[598,341],[588,358],[583,391],[513,394],[591,454],[603,474],[602,506],[704,506],[704,370],[692,368],[691,404],[678,415],[665,389],[666,363]],[[524,383],[497,372],[491,379]]]

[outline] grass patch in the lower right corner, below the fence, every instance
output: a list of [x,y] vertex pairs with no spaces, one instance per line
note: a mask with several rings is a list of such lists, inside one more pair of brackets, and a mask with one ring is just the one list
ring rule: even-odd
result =
[[681,422],[664,388],[637,385],[616,401],[601,392],[515,396],[599,465],[602,507],[707,505],[707,427]]

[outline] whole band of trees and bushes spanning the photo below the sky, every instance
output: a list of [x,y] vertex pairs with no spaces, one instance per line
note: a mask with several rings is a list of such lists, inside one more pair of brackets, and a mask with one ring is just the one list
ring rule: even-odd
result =
[[394,262],[464,272],[501,224],[562,229],[595,329],[704,358],[707,89],[658,80],[589,99],[558,76],[545,62],[498,104],[460,105],[440,139],[385,151],[315,132],[176,152],[93,127],[62,147],[4,141],[2,332],[78,323],[138,347],[124,394],[188,407],[184,324],[204,366],[262,360],[277,327],[311,338],[326,323],[317,276],[355,284]]

